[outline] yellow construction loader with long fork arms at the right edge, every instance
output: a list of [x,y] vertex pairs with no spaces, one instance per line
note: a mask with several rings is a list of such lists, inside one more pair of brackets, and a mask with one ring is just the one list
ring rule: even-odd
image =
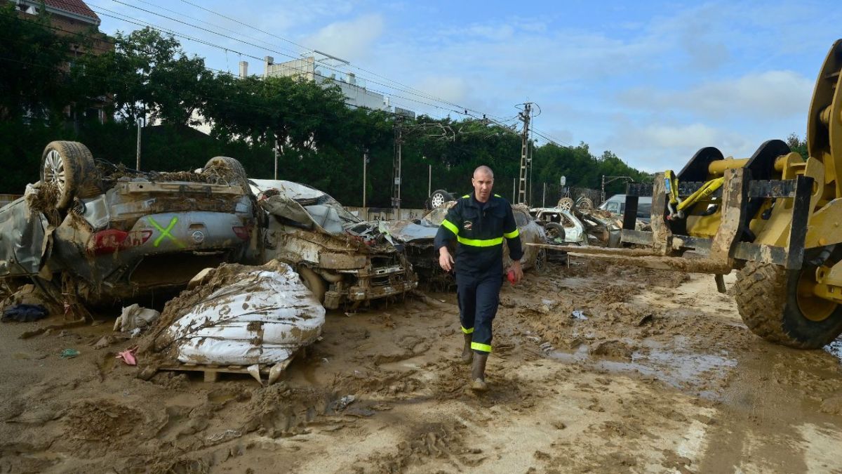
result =
[[[601,260],[713,273],[738,269],[735,298],[751,331],[817,348],[842,332],[842,40],[818,73],[802,159],[781,140],[748,159],[702,148],[677,175],[627,186],[621,240],[637,248],[570,247]],[[652,197],[652,231],[635,230]],[[642,247],[642,248],[641,248]],[[558,247],[556,247],[558,248]],[[685,251],[692,250],[685,255]]]

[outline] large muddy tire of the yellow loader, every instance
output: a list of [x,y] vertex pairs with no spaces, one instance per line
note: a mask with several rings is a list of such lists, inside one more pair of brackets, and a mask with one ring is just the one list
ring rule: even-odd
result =
[[798,292],[799,282],[814,283],[815,270],[807,264],[787,271],[779,265],[746,262],[737,274],[735,294],[745,325],[767,341],[798,349],[832,342],[842,333],[842,305]]

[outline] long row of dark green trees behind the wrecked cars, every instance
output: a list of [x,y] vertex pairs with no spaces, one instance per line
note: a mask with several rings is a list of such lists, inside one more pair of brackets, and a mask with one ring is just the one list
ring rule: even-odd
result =
[[[5,14],[9,8],[3,8]],[[3,56],[37,62],[62,71],[67,38],[56,35],[48,20],[24,22],[12,13],[0,16],[0,26],[26,41],[8,41]],[[200,57],[188,57],[178,40],[156,30],[118,33],[115,48],[88,54],[83,67],[56,74],[19,67],[0,75],[0,164],[11,170],[0,175],[0,190],[22,192],[37,179],[41,151],[51,140],[77,140],[96,158],[129,167],[136,164],[136,122],[142,129],[141,169],[192,170],[213,156],[239,159],[256,178],[274,175],[278,144],[278,177],[327,191],[350,206],[362,204],[363,156],[367,204],[388,207],[392,195],[395,153],[394,117],[380,110],[350,108],[338,87],[296,78],[236,78],[211,73]],[[4,63],[5,65],[5,63]],[[15,82],[18,81],[18,82]],[[27,81],[27,82],[24,82]],[[88,107],[107,98],[114,119],[71,124],[62,110]],[[24,121],[26,107],[51,110]],[[204,122],[210,135],[190,125]],[[142,121],[141,121],[142,123]],[[521,140],[517,132],[486,121],[418,116],[402,124],[402,207],[423,207],[431,190],[461,195],[471,189],[472,171],[480,164],[495,172],[495,192],[511,198],[520,173]],[[646,180],[615,154],[597,156],[586,143],[575,147],[530,143],[534,175],[530,200],[540,205],[546,183],[547,204],[568,186],[599,188],[602,175],[627,175]],[[431,180],[430,177],[431,176]],[[513,182],[514,181],[514,182]],[[608,192],[621,192],[621,182]]]

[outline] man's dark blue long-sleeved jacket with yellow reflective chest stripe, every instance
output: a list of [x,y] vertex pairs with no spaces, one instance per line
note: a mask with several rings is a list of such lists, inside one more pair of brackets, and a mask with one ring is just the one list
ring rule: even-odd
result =
[[473,194],[466,195],[450,207],[435,234],[436,254],[453,240],[456,240],[457,274],[479,276],[492,269],[502,273],[504,240],[512,260],[520,260],[524,255],[512,207],[496,194],[485,203],[477,202]]

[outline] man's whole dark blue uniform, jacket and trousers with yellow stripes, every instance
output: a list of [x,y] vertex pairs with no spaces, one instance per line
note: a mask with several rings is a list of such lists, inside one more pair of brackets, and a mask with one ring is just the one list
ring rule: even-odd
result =
[[491,325],[503,283],[503,241],[513,261],[523,257],[520,233],[508,201],[493,195],[478,202],[473,194],[450,208],[435,235],[436,252],[456,240],[456,294],[462,332],[472,334],[475,352],[491,352]]

